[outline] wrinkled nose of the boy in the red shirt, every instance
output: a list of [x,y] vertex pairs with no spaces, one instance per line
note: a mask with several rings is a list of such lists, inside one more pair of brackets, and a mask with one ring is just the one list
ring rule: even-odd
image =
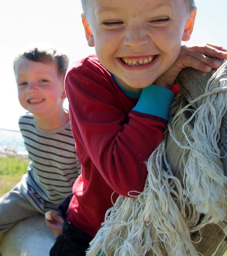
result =
[[149,41],[148,35],[143,29],[128,29],[124,37],[124,44],[133,49],[139,49]]

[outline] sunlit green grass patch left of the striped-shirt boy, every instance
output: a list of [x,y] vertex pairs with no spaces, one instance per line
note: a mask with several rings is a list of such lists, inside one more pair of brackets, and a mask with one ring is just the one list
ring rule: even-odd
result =
[[0,157],[0,197],[13,188],[26,173],[29,159],[16,156]]

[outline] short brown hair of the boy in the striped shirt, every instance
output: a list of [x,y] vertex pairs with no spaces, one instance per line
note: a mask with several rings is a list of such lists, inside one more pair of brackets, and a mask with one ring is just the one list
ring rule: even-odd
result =
[[56,65],[58,75],[60,77],[65,77],[69,59],[66,54],[62,53],[60,50],[53,46],[40,45],[37,47],[27,47],[23,49],[13,62],[13,69],[15,71],[15,66],[19,58],[26,58],[35,62],[52,62]]

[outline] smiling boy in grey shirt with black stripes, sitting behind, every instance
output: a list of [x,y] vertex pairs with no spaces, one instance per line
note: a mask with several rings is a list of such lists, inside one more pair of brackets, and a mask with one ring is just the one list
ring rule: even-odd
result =
[[0,241],[20,220],[56,210],[72,194],[80,174],[69,114],[63,108],[67,67],[65,54],[43,46],[14,60],[19,102],[28,111],[19,128],[31,162],[21,181],[0,198]]

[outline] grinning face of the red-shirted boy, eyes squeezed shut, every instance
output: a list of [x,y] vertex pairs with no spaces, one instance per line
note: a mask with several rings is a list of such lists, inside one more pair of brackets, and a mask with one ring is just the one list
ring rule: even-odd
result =
[[92,0],[84,28],[102,65],[136,91],[173,65],[188,16],[184,0]]

